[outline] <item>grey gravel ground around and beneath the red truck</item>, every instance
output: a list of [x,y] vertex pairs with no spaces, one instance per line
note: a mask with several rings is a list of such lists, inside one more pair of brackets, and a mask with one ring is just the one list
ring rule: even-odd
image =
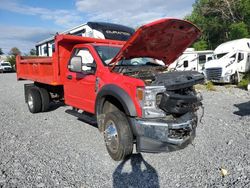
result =
[[250,187],[250,92],[201,89],[205,115],[193,145],[115,162],[95,127],[65,113],[70,107],[29,113],[24,83],[0,74],[0,187]]

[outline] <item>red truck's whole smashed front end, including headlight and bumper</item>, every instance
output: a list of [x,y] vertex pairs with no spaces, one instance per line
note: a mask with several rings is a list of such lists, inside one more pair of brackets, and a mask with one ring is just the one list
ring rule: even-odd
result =
[[131,120],[138,151],[174,151],[193,141],[196,111],[202,105],[193,86],[203,82],[204,76],[195,71],[169,72],[156,74],[150,85],[138,88],[142,118]]

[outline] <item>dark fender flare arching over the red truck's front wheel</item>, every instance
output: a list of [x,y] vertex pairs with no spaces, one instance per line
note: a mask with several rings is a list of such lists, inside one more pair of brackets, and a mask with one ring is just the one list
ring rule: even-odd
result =
[[135,105],[131,97],[122,88],[113,84],[103,86],[98,92],[95,103],[95,112],[97,115],[101,114],[105,96],[116,98],[121,103],[126,115],[132,117],[137,116]]

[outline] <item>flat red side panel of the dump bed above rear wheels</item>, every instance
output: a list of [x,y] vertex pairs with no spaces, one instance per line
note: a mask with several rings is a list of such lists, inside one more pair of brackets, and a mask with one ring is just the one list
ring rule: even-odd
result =
[[17,56],[17,79],[32,80],[49,85],[61,85],[56,57]]

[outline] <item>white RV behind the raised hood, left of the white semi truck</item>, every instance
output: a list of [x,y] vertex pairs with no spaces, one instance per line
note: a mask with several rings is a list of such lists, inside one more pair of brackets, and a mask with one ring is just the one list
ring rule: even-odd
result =
[[177,71],[194,70],[203,72],[205,63],[212,59],[212,50],[195,51],[194,48],[187,48],[177,60],[169,65],[168,69]]

